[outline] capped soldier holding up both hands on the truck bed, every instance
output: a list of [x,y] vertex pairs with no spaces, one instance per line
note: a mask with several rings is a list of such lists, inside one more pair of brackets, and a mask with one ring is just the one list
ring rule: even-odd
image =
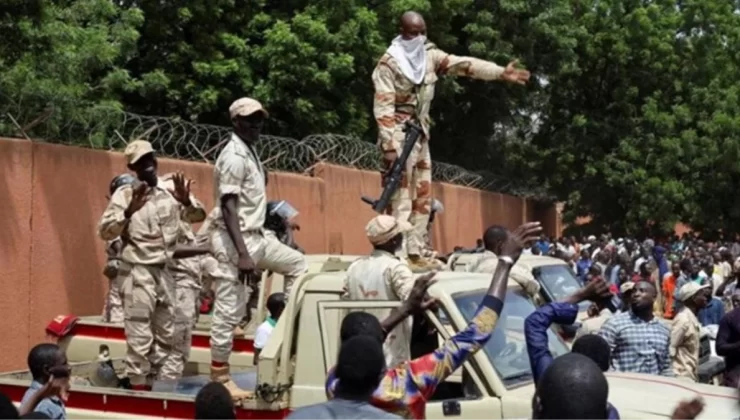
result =
[[174,283],[166,265],[174,257],[180,220],[205,219],[203,206],[190,194],[190,181],[180,174],[157,176],[152,145],[135,140],[124,151],[128,168],[140,182],[120,187],[98,224],[104,240],[124,240],[118,276],[124,289],[126,374],[133,389],[151,389],[150,375],[178,376],[170,353],[173,345]]

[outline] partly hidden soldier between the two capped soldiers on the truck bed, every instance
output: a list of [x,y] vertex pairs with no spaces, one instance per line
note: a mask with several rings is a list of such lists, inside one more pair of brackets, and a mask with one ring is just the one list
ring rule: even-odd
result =
[[[179,243],[182,245],[202,245],[207,239],[203,236],[196,238],[189,223],[181,221],[180,229],[182,234]],[[180,377],[190,359],[193,328],[200,311],[201,286],[204,283],[210,286],[213,279],[223,278],[224,275],[219,271],[218,261],[210,254],[173,259],[168,263],[167,270],[175,282],[175,332],[172,357]],[[206,279],[211,281],[204,281]]]

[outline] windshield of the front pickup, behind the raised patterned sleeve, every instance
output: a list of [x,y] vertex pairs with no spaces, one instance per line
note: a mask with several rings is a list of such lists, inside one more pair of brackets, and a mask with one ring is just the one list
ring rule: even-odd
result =
[[[484,290],[477,290],[452,296],[466,322],[473,319],[484,295]],[[532,380],[532,367],[529,365],[524,339],[524,320],[534,311],[534,304],[521,292],[508,292],[493,337],[483,347],[491,365],[507,388]],[[547,334],[553,357],[568,352],[568,348],[552,330],[548,330]]]

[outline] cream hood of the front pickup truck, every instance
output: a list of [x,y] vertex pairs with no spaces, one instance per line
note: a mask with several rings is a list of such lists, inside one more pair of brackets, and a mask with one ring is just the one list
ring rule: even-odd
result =
[[[609,402],[617,408],[622,420],[670,418],[679,402],[697,396],[701,396],[705,402],[699,420],[740,417],[738,394],[732,388],[636,373],[609,372],[606,377],[609,381]],[[531,403],[533,392],[533,384],[524,386],[508,392],[504,400],[512,397]]]

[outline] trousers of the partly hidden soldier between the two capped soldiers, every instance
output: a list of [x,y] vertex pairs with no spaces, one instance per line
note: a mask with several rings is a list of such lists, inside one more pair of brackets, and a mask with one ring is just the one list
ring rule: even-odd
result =
[[175,286],[175,333],[172,358],[179,376],[182,376],[185,365],[190,359],[190,345],[193,337],[193,326],[198,314],[199,296],[199,288]]

